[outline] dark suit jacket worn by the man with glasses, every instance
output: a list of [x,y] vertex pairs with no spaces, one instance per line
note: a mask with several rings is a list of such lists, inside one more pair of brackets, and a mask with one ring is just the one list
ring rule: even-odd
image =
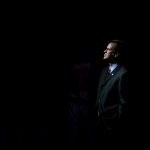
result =
[[117,129],[127,115],[128,71],[118,65],[104,81],[104,70],[99,79],[97,106],[104,127],[108,130]]

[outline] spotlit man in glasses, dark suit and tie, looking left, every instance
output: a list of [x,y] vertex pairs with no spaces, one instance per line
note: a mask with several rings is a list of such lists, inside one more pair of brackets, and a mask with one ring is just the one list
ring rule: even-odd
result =
[[100,74],[97,91],[98,142],[112,142],[126,133],[128,71],[123,66],[124,43],[112,40],[104,50],[107,67]]

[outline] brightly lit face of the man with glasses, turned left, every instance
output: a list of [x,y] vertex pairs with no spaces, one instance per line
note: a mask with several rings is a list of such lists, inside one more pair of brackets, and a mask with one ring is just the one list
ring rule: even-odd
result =
[[116,51],[117,43],[109,43],[107,48],[104,50],[104,60],[113,60],[115,57],[118,56]]

